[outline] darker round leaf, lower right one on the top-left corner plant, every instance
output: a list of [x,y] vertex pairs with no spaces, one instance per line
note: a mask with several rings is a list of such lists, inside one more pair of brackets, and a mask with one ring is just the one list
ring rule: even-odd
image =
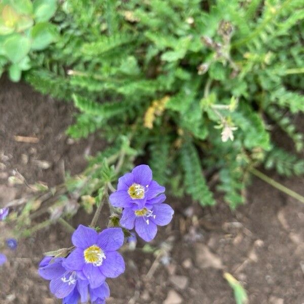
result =
[[37,23],[31,31],[32,50],[43,50],[57,39],[57,28],[48,22]]

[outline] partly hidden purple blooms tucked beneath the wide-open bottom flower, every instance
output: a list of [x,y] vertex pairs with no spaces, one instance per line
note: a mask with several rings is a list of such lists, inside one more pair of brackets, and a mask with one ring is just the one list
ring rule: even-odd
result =
[[66,270],[62,263],[64,258],[45,257],[39,265],[39,274],[50,282],[51,292],[58,298],[62,298],[63,304],[77,304],[87,302],[89,295],[91,301],[95,298],[105,299],[110,295],[109,287],[106,282],[94,289],[89,285],[88,280],[82,280],[78,277],[76,271]]

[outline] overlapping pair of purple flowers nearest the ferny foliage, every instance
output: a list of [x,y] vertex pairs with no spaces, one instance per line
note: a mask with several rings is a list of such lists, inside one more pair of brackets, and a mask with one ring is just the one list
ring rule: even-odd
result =
[[145,241],[153,240],[157,225],[167,225],[174,214],[173,209],[163,204],[165,187],[152,180],[152,171],[147,165],[135,167],[118,180],[117,191],[109,197],[115,207],[124,208],[120,224],[133,229]]

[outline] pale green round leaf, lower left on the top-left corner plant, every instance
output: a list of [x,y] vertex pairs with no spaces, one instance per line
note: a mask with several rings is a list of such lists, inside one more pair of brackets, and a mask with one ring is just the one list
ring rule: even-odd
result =
[[3,44],[5,55],[14,63],[20,61],[30,50],[30,40],[18,33],[8,36]]

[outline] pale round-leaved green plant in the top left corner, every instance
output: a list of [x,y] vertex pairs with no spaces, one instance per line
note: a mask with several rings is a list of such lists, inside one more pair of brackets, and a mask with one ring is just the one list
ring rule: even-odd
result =
[[31,67],[31,51],[43,50],[58,37],[57,27],[47,22],[56,12],[57,0],[4,0],[0,4],[0,75],[8,69],[19,81]]

